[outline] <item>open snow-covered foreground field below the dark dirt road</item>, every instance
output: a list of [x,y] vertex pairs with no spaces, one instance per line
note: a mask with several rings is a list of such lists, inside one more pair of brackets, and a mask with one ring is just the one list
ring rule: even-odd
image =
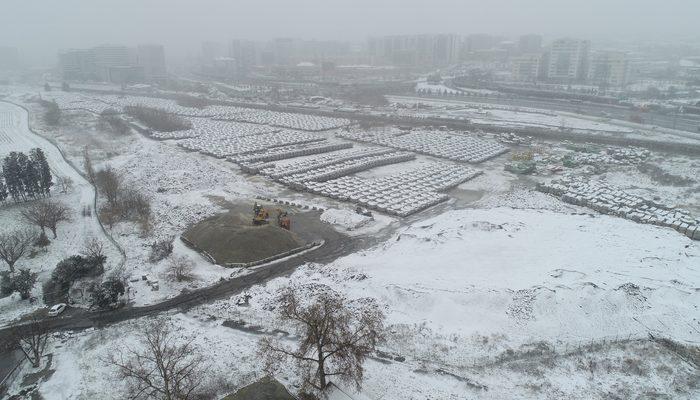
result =
[[[254,353],[260,334],[221,322],[283,329],[270,319],[276,290],[314,283],[384,308],[380,348],[405,360],[366,363],[363,395],[370,399],[604,399],[650,390],[690,399],[700,394],[691,383],[697,370],[637,338],[700,341],[699,257],[696,244],[670,229],[620,218],[455,210],[375,248],[255,286],[247,291],[250,307],[236,306],[234,296],[172,318],[182,337],[221,355],[212,359],[211,378],[224,375],[234,386],[262,375]],[[132,326],[69,339],[55,350],[60,373],[42,395],[113,398],[95,390],[120,388],[101,360],[132,343]],[[298,384],[291,375],[278,378]]]

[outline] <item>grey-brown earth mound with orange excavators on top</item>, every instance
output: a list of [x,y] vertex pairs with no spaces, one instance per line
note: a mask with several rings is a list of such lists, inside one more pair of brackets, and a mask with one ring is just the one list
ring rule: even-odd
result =
[[275,225],[253,225],[252,216],[235,212],[206,218],[182,234],[188,244],[217,264],[248,263],[304,246],[296,234]]

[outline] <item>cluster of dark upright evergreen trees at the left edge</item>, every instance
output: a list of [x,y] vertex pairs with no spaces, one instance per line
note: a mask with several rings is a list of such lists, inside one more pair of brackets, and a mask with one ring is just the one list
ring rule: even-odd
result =
[[46,155],[40,148],[29,156],[13,151],[2,162],[0,202],[12,198],[15,202],[50,196],[53,176]]

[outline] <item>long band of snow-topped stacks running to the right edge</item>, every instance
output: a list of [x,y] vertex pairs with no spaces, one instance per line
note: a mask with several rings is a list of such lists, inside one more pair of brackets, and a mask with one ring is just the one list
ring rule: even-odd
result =
[[538,184],[537,190],[557,196],[567,203],[640,223],[666,226],[693,240],[700,240],[700,221],[687,211],[625,193],[602,182],[564,177]]

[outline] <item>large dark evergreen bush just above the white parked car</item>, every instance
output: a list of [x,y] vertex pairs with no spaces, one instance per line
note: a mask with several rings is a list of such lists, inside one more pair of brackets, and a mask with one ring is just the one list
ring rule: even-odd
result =
[[65,301],[73,282],[89,277],[98,276],[104,272],[107,257],[70,256],[60,261],[51,273],[51,279],[44,284],[44,302],[47,304]]

